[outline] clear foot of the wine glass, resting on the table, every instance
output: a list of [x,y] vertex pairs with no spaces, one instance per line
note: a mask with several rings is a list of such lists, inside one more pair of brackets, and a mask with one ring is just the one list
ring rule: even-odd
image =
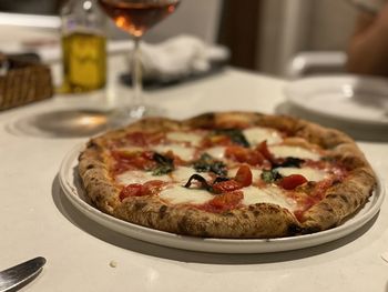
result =
[[165,111],[153,105],[126,107],[115,110],[109,117],[110,128],[121,128],[147,117],[162,117]]

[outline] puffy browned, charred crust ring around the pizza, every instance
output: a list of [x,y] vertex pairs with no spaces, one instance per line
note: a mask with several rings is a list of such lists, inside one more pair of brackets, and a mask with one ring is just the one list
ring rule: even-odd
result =
[[[188,205],[169,205],[157,197],[131,197],[120,201],[120,189],[110,175],[109,144],[135,131],[268,127],[286,132],[295,143],[316,144],[349,169],[345,181],[331,185],[325,198],[303,220],[276,204],[258,203],[212,213]],[[90,140],[79,158],[85,192],[103,212],[122,220],[178,234],[211,238],[278,238],[336,226],[368,201],[376,177],[356,143],[345,133],[284,115],[252,112],[214,112],[184,121],[145,119]]]

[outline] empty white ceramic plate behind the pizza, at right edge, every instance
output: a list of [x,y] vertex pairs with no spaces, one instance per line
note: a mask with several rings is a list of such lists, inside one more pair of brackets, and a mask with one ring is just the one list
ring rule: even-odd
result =
[[304,78],[285,87],[293,105],[359,124],[388,127],[388,80],[355,75]]

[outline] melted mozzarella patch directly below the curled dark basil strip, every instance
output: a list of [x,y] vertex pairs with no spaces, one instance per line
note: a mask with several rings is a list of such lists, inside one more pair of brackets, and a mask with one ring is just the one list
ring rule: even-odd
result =
[[214,194],[211,194],[206,190],[186,189],[181,185],[174,185],[163,190],[160,198],[173,204],[204,204],[212,200]]

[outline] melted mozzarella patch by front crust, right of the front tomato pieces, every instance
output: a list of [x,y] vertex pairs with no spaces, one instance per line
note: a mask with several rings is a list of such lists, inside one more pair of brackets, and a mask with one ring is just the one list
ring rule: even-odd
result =
[[296,210],[296,202],[293,199],[286,198],[282,190],[276,187],[258,189],[256,187],[244,188],[243,204],[270,203],[277,204],[289,211]]

